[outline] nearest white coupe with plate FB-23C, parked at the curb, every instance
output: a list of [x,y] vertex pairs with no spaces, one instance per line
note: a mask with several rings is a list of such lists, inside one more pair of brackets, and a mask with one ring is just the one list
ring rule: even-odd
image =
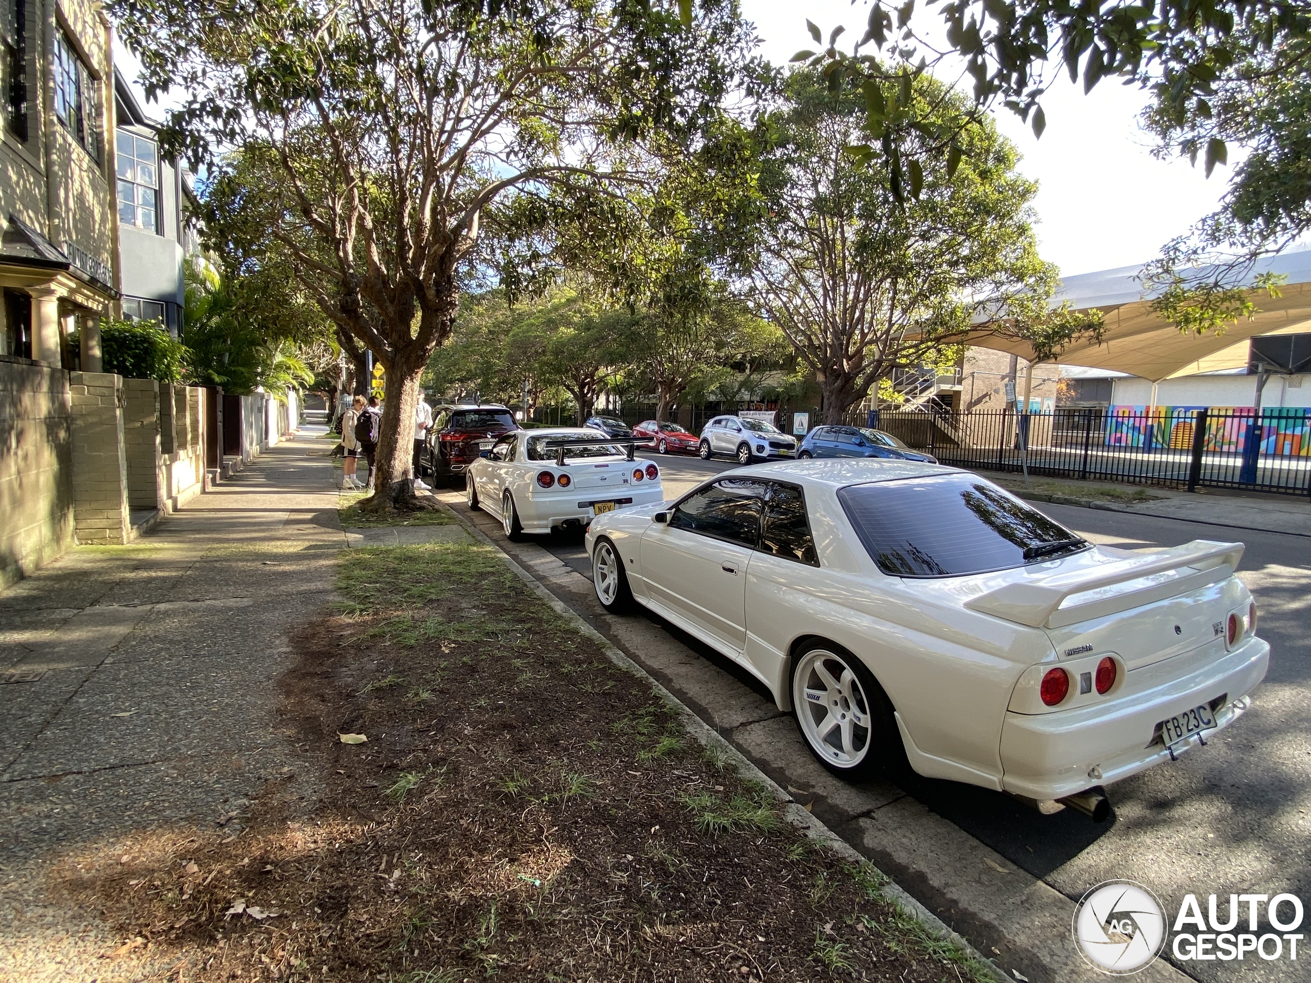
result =
[[919,775],[1104,818],[1101,786],[1234,722],[1269,645],[1236,543],[1096,547],[914,461],[741,468],[598,516],[597,596],[745,666],[831,771]]

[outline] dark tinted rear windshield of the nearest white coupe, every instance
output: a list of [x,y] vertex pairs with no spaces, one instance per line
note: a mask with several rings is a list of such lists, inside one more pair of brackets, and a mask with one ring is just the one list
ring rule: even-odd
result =
[[838,501],[871,558],[893,577],[965,577],[1089,545],[974,474],[851,485]]

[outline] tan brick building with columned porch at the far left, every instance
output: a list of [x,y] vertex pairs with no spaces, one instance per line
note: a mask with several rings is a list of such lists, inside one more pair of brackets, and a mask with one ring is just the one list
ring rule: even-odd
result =
[[0,355],[59,367],[118,300],[110,25],[92,0],[0,0]]

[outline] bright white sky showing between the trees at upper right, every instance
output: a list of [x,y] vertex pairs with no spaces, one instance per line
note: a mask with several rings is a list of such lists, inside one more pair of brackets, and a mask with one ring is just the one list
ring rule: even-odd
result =
[[[850,42],[864,34],[869,8],[863,0],[742,0],[755,24],[759,48],[785,64],[801,48],[814,47],[806,17],[827,38],[839,24]],[[929,13],[928,17],[935,14]],[[916,14],[918,24],[927,24]],[[839,42],[840,43],[840,42]],[[1141,265],[1160,246],[1215,211],[1228,172],[1217,166],[1210,180],[1186,160],[1151,156],[1151,136],[1138,127],[1147,94],[1103,80],[1088,96],[1068,76],[1042,101],[1047,127],[1037,140],[1019,117],[1002,110],[998,128],[1019,147],[1020,170],[1038,182],[1034,208],[1042,257],[1062,275]]]

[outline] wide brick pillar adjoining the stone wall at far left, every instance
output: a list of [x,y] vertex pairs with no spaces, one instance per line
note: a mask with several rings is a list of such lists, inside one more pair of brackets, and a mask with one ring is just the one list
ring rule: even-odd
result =
[[123,452],[123,380],[69,372],[73,515],[79,543],[126,543],[131,531]]

